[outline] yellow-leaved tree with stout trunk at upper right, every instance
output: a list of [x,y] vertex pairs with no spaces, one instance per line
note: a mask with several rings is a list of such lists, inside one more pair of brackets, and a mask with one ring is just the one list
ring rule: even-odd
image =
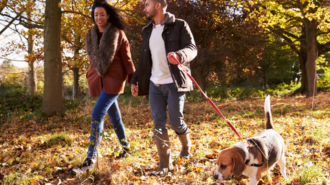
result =
[[[281,45],[289,45],[299,56],[303,77],[301,90],[307,96],[317,95],[316,59],[330,51],[330,2],[327,0],[249,1],[252,20],[263,27],[265,34],[277,34]],[[325,39],[328,38],[328,39]]]

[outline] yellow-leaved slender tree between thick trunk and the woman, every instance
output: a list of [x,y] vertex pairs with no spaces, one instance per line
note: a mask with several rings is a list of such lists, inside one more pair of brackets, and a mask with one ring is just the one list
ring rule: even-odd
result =
[[65,41],[62,42],[63,50],[70,54],[63,56],[63,66],[67,66],[74,73],[72,97],[76,98],[80,95],[79,77],[88,68],[85,37],[93,25],[89,11],[92,2],[63,0],[63,3],[72,4],[62,11],[64,14],[61,21],[61,38]]

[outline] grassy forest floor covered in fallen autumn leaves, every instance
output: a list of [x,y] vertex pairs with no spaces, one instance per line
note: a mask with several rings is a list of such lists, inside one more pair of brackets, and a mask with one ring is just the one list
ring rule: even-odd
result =
[[[133,98],[133,97],[132,97]],[[135,97],[137,98],[137,97]],[[95,100],[94,100],[95,101]],[[180,160],[181,144],[168,128],[175,170],[150,177],[157,170],[153,120],[146,98],[120,99],[131,155],[121,151],[109,118],[105,119],[98,165],[92,173],[72,175],[86,157],[94,101],[81,101],[65,117],[11,117],[0,122],[0,182],[2,184],[248,184],[249,178],[217,182],[217,153],[239,142],[238,136],[207,101],[186,102],[184,120],[190,128],[192,154]],[[215,101],[243,139],[264,130],[265,99]],[[271,97],[275,130],[285,140],[287,179],[276,164],[259,184],[330,184],[330,93],[317,97]],[[137,102],[137,103],[133,103]],[[70,102],[69,102],[70,103]],[[241,108],[240,108],[241,106]]]

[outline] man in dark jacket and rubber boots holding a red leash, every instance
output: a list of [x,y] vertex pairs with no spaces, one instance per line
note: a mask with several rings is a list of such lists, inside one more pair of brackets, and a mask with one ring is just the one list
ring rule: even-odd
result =
[[132,95],[149,95],[159,169],[150,175],[164,176],[173,170],[170,142],[166,130],[166,107],[170,126],[182,144],[181,158],[188,159],[191,141],[184,119],[186,92],[192,82],[175,57],[190,73],[189,62],[197,56],[195,40],[188,24],[166,12],[166,0],[146,0],[144,13],[153,20],[142,29],[139,66],[131,79]]

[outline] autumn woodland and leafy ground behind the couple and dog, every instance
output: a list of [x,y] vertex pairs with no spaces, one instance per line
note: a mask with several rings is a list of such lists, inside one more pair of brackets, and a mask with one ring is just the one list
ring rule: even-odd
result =
[[[185,121],[194,156],[175,172],[148,177],[157,167],[147,97],[120,96],[132,146],[120,147],[106,124],[98,169],[72,176],[85,158],[91,110],[85,74],[85,36],[92,26],[87,0],[3,0],[0,3],[0,182],[2,184],[219,184],[217,152],[238,141],[197,88],[187,97]],[[146,25],[144,1],[109,1],[122,10],[135,66]],[[192,77],[243,138],[263,130],[264,97],[272,96],[276,130],[287,145],[288,179],[274,169],[261,184],[329,184],[330,2],[169,1],[184,19],[198,55]],[[23,58],[28,67],[12,62]],[[109,122],[109,121],[108,121]],[[248,184],[232,177],[224,184]]]

